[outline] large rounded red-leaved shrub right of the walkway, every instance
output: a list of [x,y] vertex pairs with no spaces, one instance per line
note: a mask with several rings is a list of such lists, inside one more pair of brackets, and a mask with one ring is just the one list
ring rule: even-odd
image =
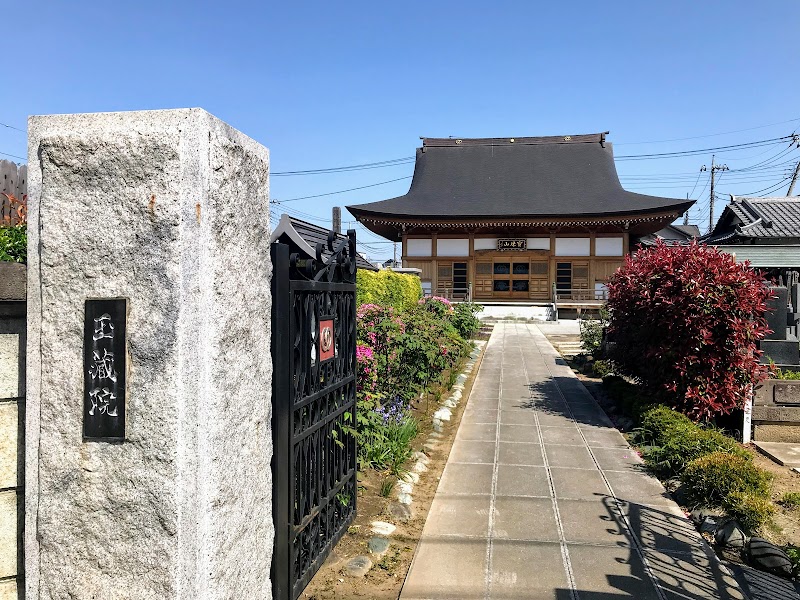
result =
[[628,256],[608,290],[611,358],[654,399],[706,420],[744,406],[767,376],[756,343],[770,292],[730,254],[659,242]]

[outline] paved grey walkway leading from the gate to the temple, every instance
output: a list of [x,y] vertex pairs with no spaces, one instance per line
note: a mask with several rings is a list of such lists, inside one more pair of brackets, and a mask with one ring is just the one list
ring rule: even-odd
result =
[[400,597],[744,598],[523,323],[495,326]]

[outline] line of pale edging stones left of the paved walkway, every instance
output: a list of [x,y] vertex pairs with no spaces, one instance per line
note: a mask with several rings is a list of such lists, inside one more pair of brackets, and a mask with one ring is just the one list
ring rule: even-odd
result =
[[[475,348],[470,352],[464,368],[456,378],[455,385],[450,389],[450,394],[439,402],[439,408],[432,416],[433,432],[425,440],[422,451],[417,451],[412,455],[414,461],[411,469],[402,477],[398,478],[395,489],[397,490],[396,502],[390,506],[390,512],[401,521],[412,517],[412,504],[414,502],[414,486],[420,482],[421,477],[425,477],[428,472],[428,457],[432,452],[439,449],[442,440],[446,437],[445,429],[448,427],[453,411],[466,399],[465,386],[470,375],[475,370],[475,366],[481,357],[485,340],[473,340]],[[380,560],[391,548],[391,535],[397,527],[387,521],[373,521],[370,530],[374,534],[369,540],[368,549],[370,556],[355,556],[344,567],[347,575],[353,577],[363,577],[373,566],[373,558]]]

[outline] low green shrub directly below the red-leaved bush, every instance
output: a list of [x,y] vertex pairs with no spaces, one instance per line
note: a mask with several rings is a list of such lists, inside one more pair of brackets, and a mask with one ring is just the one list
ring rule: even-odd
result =
[[656,406],[642,415],[636,443],[645,446],[644,459],[656,473],[670,477],[700,457],[724,452],[746,462],[750,454],[721,431],[701,427],[666,406]]

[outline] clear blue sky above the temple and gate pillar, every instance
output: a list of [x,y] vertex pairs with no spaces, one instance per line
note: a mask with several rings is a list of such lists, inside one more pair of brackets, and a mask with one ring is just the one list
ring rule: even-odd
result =
[[[16,40],[6,44],[3,124],[200,106],[268,146],[275,172],[409,157],[420,136],[610,130],[621,156],[800,131],[796,0],[8,4]],[[698,137],[723,132],[735,133]],[[663,141],[676,138],[697,139]],[[24,133],[0,127],[0,152],[25,156]],[[627,189],[700,198],[691,217],[705,230],[699,168],[710,155],[617,167]],[[777,186],[800,150],[771,142],[717,159],[732,169],[718,186],[719,215],[727,194]],[[275,176],[276,200],[399,181],[273,205],[273,214],[322,221],[334,205],[405,193],[412,172],[408,162]],[[373,234],[361,239],[372,256],[391,255]]]

